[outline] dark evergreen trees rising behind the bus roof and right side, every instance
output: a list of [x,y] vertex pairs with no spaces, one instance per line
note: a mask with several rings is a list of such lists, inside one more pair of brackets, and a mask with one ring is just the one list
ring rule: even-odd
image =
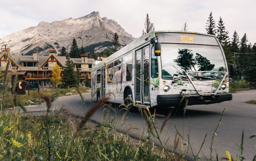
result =
[[[146,16],[144,25],[145,30],[143,29],[143,34],[155,30],[154,23],[150,21],[149,14]],[[205,29],[206,33],[216,35],[224,50],[228,67],[230,64],[236,64],[236,78],[239,79],[243,76],[247,81],[256,83],[256,43],[253,45],[248,43],[246,33],[240,39],[236,30],[234,30],[233,36],[230,39],[228,36],[229,31],[226,29],[223,19],[220,16],[216,25],[212,12],[209,14]],[[184,23],[181,30],[188,30],[187,22]]]

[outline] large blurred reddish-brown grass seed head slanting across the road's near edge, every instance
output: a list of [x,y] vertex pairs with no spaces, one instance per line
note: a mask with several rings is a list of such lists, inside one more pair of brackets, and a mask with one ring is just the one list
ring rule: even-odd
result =
[[93,106],[90,107],[90,109],[86,112],[86,114],[83,116],[82,121],[80,122],[80,124],[77,127],[77,135],[78,132],[82,129],[82,127],[84,126],[84,124],[90,119],[90,117],[96,112],[96,110],[103,105],[107,100],[109,99],[109,97],[103,97],[100,101],[98,101],[97,103],[95,103]]

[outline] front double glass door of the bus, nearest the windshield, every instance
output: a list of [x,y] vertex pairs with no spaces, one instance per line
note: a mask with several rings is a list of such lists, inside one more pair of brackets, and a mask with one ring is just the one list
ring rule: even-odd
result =
[[150,105],[149,60],[150,60],[149,46],[146,46],[136,51],[136,72],[135,72],[136,101],[139,104],[145,104],[145,105]]

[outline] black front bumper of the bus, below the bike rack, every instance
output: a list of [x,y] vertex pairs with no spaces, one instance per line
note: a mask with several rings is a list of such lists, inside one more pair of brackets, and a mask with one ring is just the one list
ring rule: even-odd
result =
[[[157,104],[161,106],[175,106],[180,104],[181,99],[181,94],[157,95]],[[232,100],[231,93],[221,95],[189,96],[188,105],[219,103],[227,100]]]

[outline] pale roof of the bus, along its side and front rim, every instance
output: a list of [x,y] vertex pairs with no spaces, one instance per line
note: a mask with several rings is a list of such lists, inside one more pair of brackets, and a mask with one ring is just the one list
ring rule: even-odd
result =
[[114,52],[112,55],[108,56],[107,58],[105,58],[102,61],[95,61],[92,64],[92,67],[100,67],[102,65],[104,65],[105,63],[108,63],[111,60],[114,60],[115,58],[128,53],[130,51],[132,51],[134,48],[137,48],[139,46],[142,46],[143,44],[149,42],[151,40],[151,38],[154,38],[156,36],[156,33],[161,33],[161,32],[169,32],[169,33],[194,33],[194,34],[203,34],[203,35],[209,35],[209,36],[215,36],[212,34],[207,34],[207,33],[200,33],[200,32],[190,32],[190,31],[175,31],[175,30],[161,30],[161,31],[152,31],[149,32],[147,34],[142,35],[141,37],[135,39],[134,41],[132,41],[131,43],[127,44],[126,46],[123,46],[121,49],[119,49],[118,51]]

